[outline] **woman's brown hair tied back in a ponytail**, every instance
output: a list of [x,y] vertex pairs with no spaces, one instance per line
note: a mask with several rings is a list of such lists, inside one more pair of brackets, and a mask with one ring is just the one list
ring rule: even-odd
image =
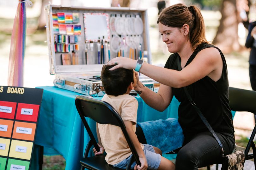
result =
[[178,3],[162,10],[159,14],[157,24],[161,22],[163,25],[169,27],[181,28],[184,24],[189,25],[189,40],[192,48],[196,48],[201,43],[208,43],[205,38],[204,19],[200,9],[191,5]]

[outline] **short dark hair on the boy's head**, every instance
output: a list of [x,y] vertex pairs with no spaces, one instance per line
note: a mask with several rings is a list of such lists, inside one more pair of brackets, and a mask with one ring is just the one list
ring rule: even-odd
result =
[[101,70],[102,85],[108,95],[118,96],[125,94],[127,87],[133,82],[133,70],[118,68],[109,69],[115,65],[103,65]]

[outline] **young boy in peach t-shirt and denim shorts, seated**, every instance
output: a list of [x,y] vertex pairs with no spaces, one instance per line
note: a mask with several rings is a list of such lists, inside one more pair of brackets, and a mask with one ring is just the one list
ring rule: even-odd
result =
[[[106,91],[102,100],[112,105],[124,121],[126,130],[138,153],[141,166],[135,162],[131,168],[144,169],[175,169],[174,163],[162,157],[161,150],[149,144],[139,143],[136,131],[137,100],[129,95],[130,91],[137,85],[137,79],[133,70],[118,68],[109,71],[114,65],[103,65],[101,71],[102,85]],[[129,145],[120,127],[106,124],[96,125],[98,145],[100,152],[93,149],[95,155],[106,151],[108,164],[118,168],[126,168],[132,157]],[[157,136],[156,136],[157,138]]]

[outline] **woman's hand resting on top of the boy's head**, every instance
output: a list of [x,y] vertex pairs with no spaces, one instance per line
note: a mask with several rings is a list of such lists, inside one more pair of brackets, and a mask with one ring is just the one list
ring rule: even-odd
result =
[[111,59],[107,65],[115,65],[109,70],[115,70],[117,68],[135,69],[137,61],[126,57],[116,57]]

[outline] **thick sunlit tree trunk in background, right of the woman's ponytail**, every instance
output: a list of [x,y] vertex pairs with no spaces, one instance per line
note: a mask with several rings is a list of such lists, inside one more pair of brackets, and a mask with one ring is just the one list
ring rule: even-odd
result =
[[238,51],[241,45],[238,42],[238,16],[236,0],[223,0],[221,7],[221,20],[216,37],[213,40],[223,53]]

